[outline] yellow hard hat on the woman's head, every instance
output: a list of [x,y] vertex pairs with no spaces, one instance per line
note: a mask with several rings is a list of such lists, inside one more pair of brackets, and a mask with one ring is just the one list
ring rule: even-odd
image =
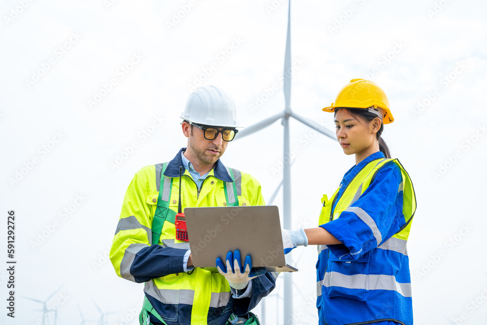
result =
[[[383,110],[382,123],[389,124],[394,117],[389,109],[389,99],[386,93],[373,81],[352,79],[338,93],[335,103],[323,108],[325,112],[335,112],[336,108],[363,108],[379,107]],[[377,113],[376,113],[377,114]]]

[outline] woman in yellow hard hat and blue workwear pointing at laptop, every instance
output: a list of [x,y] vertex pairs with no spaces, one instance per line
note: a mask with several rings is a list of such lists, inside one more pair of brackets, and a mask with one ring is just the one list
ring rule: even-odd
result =
[[320,325],[412,325],[406,243],[416,201],[380,137],[394,120],[389,100],[374,82],[353,79],[323,111],[335,113],[338,142],[356,165],[323,196],[318,228],[283,231],[285,251],[319,245]]

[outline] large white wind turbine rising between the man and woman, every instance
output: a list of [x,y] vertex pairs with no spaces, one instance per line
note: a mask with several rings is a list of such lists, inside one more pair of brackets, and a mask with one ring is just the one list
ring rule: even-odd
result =
[[[249,134],[260,131],[277,120],[281,119],[284,126],[284,154],[283,154],[283,226],[285,229],[291,229],[291,165],[290,165],[290,146],[289,146],[289,118],[293,117],[301,123],[315,129],[321,134],[324,134],[335,141],[335,133],[322,127],[318,123],[302,117],[291,110],[291,0],[289,0],[289,8],[287,14],[287,38],[286,38],[286,52],[284,57],[284,111],[276,115],[270,116],[261,122],[239,131],[238,137],[242,138]],[[278,188],[279,189],[279,188]],[[293,287],[292,278],[289,273],[284,274],[284,324],[290,324],[293,319]]]

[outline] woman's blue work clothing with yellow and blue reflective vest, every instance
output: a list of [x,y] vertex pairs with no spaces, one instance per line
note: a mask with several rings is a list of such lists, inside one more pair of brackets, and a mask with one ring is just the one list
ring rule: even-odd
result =
[[406,244],[416,201],[408,173],[397,159],[374,153],[322,203],[320,227],[343,244],[318,247],[319,324],[412,325]]

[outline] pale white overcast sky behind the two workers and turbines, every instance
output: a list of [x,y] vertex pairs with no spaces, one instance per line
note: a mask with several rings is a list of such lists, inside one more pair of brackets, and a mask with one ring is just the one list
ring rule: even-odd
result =
[[[57,308],[58,324],[79,324],[78,306],[86,319],[98,319],[91,299],[103,311],[118,311],[108,316],[109,324],[126,324],[122,320],[133,317],[130,309],[138,315],[143,285],[118,278],[103,255],[108,256],[131,177],[144,166],[169,161],[186,146],[179,115],[191,92],[188,84],[199,76],[205,78],[202,85],[220,86],[233,96],[244,125],[283,109],[281,83],[260,107],[250,105],[280,82],[287,3],[276,0],[276,10],[269,12],[271,1],[195,1],[170,29],[167,22],[188,1],[119,0],[108,8],[102,0],[26,3],[23,10],[20,1],[4,0],[0,7],[1,233],[6,238],[6,211],[15,210],[18,261],[12,320],[5,309],[3,240],[1,324],[35,324],[41,313],[34,310],[41,305],[20,296],[44,300],[61,285],[61,295],[48,303]],[[430,17],[435,3],[438,13]],[[348,11],[352,5],[355,11]],[[303,0],[292,5],[292,60],[302,62],[292,76],[294,111],[334,131],[333,115],[320,109],[350,79],[360,77],[377,82],[391,102],[395,121],[385,126],[383,137],[410,173],[418,202],[408,251],[419,325],[455,319],[485,324],[487,319],[481,296],[487,288],[482,208],[486,9],[485,2],[473,0]],[[340,17],[342,26],[330,32]],[[233,53],[219,59],[234,38],[241,43],[233,43]],[[70,48],[61,57],[58,47],[66,42]],[[117,71],[134,54],[142,58],[122,78]],[[26,79],[42,74],[50,58],[54,64],[28,85]],[[203,70],[213,62],[216,69],[206,78]],[[112,90],[102,92],[105,96],[90,108],[88,99],[112,78],[117,81]],[[435,98],[428,102],[431,94]],[[422,112],[416,111],[418,101],[426,103]],[[164,122],[152,128],[156,117]],[[300,122],[290,125],[291,148],[297,147],[291,171],[293,227],[314,227],[322,194],[337,188],[355,160]],[[153,132],[144,138],[141,132],[147,129]],[[266,201],[282,178],[282,132],[276,122],[230,143],[222,159],[256,177]],[[56,133],[62,134],[60,141]],[[50,142],[53,138],[58,142]],[[137,147],[112,170],[109,164],[134,141]],[[33,159],[37,163],[11,184]],[[60,211],[74,208],[77,195],[84,202],[64,218]],[[274,204],[282,209],[281,203],[280,193]],[[33,248],[31,242],[47,228],[54,231]],[[447,243],[450,238],[455,245]],[[295,249],[292,257],[300,269],[292,275],[298,324],[317,324],[316,248]],[[280,279],[273,294],[282,296],[282,286]],[[475,299],[476,305],[470,303]],[[276,311],[276,297],[267,298],[265,324],[282,324],[282,300],[279,304]],[[254,311],[262,320],[261,308]]]

